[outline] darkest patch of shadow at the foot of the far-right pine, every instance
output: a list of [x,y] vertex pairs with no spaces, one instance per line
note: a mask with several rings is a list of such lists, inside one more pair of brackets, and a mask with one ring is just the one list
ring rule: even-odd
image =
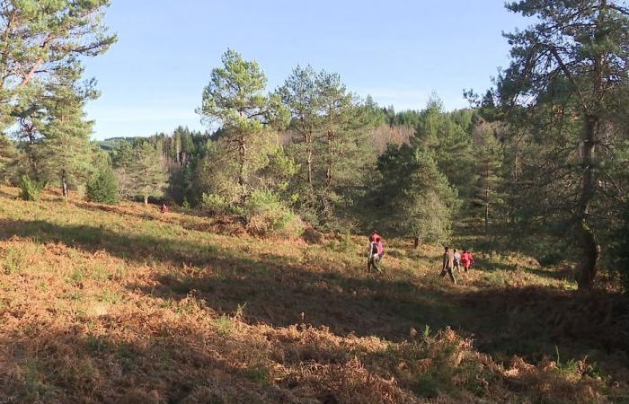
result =
[[623,361],[629,354],[629,301],[622,295],[505,287],[459,294],[456,303],[475,313],[462,319],[462,327],[474,334],[477,347],[494,356],[539,361],[560,349],[571,357],[599,351]]

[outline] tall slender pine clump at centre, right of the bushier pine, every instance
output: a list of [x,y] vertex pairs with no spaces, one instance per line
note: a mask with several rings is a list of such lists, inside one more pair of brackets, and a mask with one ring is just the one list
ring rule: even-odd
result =
[[286,151],[300,167],[288,184],[292,205],[319,227],[350,224],[376,163],[370,135],[383,112],[348,92],[340,75],[310,66],[297,66],[277,93],[295,134]]

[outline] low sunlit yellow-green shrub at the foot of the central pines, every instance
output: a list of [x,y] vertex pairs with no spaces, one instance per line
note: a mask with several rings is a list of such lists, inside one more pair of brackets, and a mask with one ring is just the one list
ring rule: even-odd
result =
[[304,224],[278,196],[268,190],[255,190],[243,206],[247,231],[254,234],[277,234],[298,237]]

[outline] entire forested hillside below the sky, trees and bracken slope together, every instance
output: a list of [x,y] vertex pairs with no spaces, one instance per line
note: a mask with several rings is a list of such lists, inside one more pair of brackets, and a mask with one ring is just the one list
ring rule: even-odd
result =
[[99,142],[110,5],[0,0],[0,402],[629,400],[626,1],[508,2],[466,108],[228,48]]

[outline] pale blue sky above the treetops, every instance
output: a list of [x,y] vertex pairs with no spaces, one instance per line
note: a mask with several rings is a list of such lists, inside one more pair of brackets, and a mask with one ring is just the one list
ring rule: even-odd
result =
[[525,25],[501,0],[112,0],[106,22],[119,41],[85,72],[102,92],[87,107],[98,139],[203,128],[194,110],[226,48],[257,60],[270,90],[311,64],[396,110],[431,92],[465,107],[463,89],[508,64],[501,32]]

